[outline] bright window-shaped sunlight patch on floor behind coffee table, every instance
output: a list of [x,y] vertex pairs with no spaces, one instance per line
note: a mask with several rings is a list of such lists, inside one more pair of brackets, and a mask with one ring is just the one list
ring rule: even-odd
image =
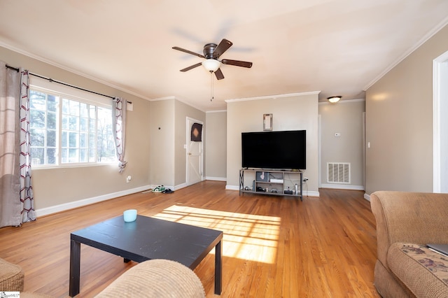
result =
[[223,231],[223,256],[274,263],[280,218],[173,205],[154,218]]

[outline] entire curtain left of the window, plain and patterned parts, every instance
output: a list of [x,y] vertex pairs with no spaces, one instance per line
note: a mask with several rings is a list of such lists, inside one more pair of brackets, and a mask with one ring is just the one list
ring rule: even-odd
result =
[[27,106],[27,71],[8,69],[0,62],[0,227],[19,226],[36,219],[31,168],[26,162],[29,115],[21,111]]

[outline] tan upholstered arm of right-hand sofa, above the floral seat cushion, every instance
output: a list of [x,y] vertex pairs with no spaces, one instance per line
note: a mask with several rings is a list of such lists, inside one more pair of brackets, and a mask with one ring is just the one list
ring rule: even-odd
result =
[[378,260],[387,269],[392,243],[448,243],[448,194],[374,192],[370,206],[377,220]]

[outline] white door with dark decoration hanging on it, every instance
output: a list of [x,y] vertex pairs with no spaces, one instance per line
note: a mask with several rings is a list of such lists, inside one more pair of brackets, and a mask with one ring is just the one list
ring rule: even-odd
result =
[[[204,179],[203,127],[202,121],[187,117],[187,185],[198,183]],[[192,141],[192,139],[195,140]]]

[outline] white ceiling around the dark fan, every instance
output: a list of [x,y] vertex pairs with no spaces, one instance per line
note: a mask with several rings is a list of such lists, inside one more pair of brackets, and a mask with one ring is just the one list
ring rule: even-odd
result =
[[[226,99],[299,92],[364,98],[447,12],[447,0],[0,0],[0,45],[146,99],[216,111]],[[179,71],[202,59],[172,47],[202,54],[223,38],[233,45],[220,59],[253,66],[221,66],[211,101],[210,73]]]

